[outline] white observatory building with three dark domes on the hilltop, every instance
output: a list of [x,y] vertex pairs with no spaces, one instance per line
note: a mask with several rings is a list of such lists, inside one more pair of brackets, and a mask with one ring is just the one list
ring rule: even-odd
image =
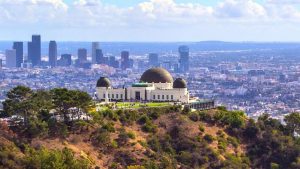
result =
[[127,88],[113,88],[106,77],[97,82],[96,96],[110,101],[152,101],[189,103],[187,83],[182,78],[173,81],[171,74],[163,68],[151,68],[143,73],[140,82]]

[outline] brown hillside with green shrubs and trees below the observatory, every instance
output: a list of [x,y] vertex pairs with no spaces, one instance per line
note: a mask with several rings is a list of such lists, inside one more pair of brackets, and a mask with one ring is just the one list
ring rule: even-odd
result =
[[[224,107],[95,111],[91,105],[80,91],[10,91],[1,116],[24,121],[0,124],[0,168],[300,168],[299,113],[282,124]],[[85,113],[91,120],[78,118]]]

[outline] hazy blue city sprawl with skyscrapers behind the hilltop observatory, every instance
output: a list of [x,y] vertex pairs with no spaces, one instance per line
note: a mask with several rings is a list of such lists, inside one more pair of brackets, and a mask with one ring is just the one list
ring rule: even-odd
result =
[[[26,42],[27,43],[27,42]],[[41,52],[41,36],[13,42],[0,51],[0,100],[18,85],[32,89],[65,87],[95,95],[100,76],[113,87],[139,81],[151,67],[163,67],[175,78],[184,78],[191,95],[214,99],[217,105],[243,110],[251,117],[269,113],[275,118],[300,111],[300,60],[289,50],[191,50],[188,44],[177,51],[132,53],[124,49],[108,54],[101,43],[78,48],[76,54],[61,53],[50,41],[47,55]],[[1,104],[0,104],[1,109]]]

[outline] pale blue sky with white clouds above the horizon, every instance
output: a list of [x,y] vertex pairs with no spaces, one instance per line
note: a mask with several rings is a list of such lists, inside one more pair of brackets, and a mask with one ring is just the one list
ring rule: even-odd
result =
[[300,41],[300,0],[0,0],[0,40]]

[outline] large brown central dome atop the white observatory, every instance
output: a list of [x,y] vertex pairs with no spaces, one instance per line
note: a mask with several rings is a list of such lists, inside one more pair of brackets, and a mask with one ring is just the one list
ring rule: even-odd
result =
[[151,68],[143,73],[140,82],[144,83],[173,83],[172,75],[164,68]]

